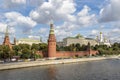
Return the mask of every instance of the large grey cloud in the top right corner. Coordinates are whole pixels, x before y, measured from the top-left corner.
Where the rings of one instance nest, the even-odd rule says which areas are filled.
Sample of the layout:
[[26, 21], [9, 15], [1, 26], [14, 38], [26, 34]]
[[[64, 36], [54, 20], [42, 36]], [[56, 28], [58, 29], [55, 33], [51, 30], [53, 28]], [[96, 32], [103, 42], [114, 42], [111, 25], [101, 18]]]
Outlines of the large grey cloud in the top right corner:
[[120, 0], [110, 0], [110, 3], [101, 9], [100, 22], [120, 20]]

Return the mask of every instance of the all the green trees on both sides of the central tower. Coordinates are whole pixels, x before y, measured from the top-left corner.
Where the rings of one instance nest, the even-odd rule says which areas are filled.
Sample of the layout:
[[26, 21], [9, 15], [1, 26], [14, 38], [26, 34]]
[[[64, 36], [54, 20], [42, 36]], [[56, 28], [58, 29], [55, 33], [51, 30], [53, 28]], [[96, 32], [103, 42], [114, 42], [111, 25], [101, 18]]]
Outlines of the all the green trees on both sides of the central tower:
[[[88, 49], [87, 45], [71, 44], [70, 46], [57, 47], [57, 51], [85, 51]], [[111, 47], [106, 45], [96, 45], [91, 46], [91, 49], [98, 50], [100, 55], [118, 55], [120, 54], [120, 43], [114, 43]], [[13, 46], [12, 50], [5, 45], [0, 45], [0, 59], [11, 59], [13, 56], [19, 56], [22, 59], [28, 58], [40, 58], [40, 55], [35, 54], [36, 51], [47, 52], [47, 44], [33, 44], [32, 46], [28, 44], [19, 44]]]

